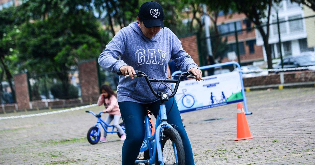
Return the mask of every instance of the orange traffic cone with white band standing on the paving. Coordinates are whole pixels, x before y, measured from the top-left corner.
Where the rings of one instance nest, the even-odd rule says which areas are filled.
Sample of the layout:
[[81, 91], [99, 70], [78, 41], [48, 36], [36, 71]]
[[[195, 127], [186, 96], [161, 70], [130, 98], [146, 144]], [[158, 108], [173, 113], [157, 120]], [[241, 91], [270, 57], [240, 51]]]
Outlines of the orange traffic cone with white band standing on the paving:
[[237, 127], [236, 127], [236, 139], [234, 140], [245, 140], [252, 139], [254, 136], [250, 135], [249, 127], [243, 111], [243, 104], [241, 102], [237, 103]]

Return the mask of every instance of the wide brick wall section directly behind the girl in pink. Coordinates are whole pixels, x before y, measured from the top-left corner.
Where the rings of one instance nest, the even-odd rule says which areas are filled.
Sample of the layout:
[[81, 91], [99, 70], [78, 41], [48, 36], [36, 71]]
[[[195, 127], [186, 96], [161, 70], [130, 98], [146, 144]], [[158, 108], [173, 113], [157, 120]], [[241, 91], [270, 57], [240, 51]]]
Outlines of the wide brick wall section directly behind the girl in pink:
[[96, 103], [100, 94], [96, 60], [80, 63], [79, 79], [83, 103]]

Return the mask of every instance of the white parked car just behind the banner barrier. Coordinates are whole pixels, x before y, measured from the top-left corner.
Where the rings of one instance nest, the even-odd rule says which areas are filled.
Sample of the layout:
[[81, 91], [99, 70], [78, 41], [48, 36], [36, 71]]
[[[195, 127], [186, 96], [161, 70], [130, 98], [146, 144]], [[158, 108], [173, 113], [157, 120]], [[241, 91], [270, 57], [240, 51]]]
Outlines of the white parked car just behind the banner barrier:
[[[266, 76], [268, 75], [267, 70], [263, 70], [259, 68], [258, 66], [254, 65], [248, 65], [248, 66], [242, 66], [242, 77], [248, 78], [248, 77], [257, 77], [257, 76]], [[238, 70], [238, 68], [235, 68], [234, 71]]]

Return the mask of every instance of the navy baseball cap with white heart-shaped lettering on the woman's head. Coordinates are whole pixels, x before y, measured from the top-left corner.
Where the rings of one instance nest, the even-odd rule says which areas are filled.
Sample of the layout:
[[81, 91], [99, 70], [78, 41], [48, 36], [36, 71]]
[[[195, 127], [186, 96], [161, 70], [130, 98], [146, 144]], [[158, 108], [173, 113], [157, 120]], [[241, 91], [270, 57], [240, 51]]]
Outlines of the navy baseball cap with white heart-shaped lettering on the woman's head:
[[147, 28], [159, 26], [164, 29], [163, 8], [157, 2], [143, 3], [139, 9], [138, 17]]

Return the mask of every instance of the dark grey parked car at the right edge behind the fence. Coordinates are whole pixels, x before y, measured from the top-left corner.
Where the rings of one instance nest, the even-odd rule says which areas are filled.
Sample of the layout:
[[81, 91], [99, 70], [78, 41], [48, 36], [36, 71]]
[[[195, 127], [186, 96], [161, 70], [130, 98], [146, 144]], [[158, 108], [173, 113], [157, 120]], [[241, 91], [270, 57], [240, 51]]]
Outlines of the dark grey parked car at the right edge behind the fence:
[[[283, 58], [283, 68], [309, 67], [308, 70], [315, 70], [315, 57], [312, 55], [288, 56]], [[274, 67], [281, 68], [281, 61]]]

